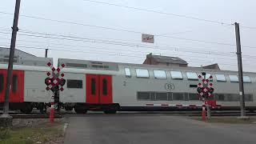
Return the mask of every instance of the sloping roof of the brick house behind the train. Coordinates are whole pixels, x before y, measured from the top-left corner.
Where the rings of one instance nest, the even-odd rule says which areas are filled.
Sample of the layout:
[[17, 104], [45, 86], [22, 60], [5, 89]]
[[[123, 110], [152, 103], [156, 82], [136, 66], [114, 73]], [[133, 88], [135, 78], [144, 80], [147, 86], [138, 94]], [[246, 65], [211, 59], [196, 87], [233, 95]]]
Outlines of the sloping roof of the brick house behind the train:
[[183, 64], [183, 65], [188, 64], [185, 60], [178, 57], [168, 57], [168, 56], [154, 55], [154, 54], [152, 54], [152, 57], [155, 59], [156, 62], [175, 63], [175, 64]]

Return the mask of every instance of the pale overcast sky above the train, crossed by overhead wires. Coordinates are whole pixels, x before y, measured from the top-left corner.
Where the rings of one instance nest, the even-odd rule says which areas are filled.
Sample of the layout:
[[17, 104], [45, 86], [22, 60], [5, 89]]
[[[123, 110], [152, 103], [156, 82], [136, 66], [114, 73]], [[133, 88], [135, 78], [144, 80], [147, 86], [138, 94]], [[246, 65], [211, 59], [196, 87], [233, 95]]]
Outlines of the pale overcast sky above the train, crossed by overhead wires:
[[[235, 45], [234, 26], [231, 24], [238, 22], [241, 26], [252, 27], [240, 27], [243, 68], [256, 71], [255, 0], [95, 1], [118, 6], [86, 0], [22, 0], [17, 48], [40, 57], [44, 57], [43, 49], [48, 48], [48, 56], [55, 62], [57, 58], [75, 58], [142, 63], [146, 54], [152, 52], [178, 56], [189, 66], [218, 63], [222, 70], [237, 70], [236, 46], [232, 46]], [[15, 0], [1, 0], [0, 46], [10, 46], [14, 6]], [[27, 31], [29, 33], [24, 33]], [[154, 34], [154, 44], [142, 43], [142, 33]]]

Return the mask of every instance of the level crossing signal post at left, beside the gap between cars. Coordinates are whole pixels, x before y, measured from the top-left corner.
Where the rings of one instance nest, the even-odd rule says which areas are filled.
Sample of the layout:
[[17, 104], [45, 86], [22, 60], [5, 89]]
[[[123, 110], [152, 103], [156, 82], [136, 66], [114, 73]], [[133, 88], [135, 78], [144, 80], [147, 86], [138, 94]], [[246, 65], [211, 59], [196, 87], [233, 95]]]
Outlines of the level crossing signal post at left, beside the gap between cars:
[[[53, 96], [50, 98], [50, 122], [54, 122], [54, 106], [55, 103], [58, 102], [58, 92], [59, 90], [63, 91], [64, 88], [63, 86], [66, 83], [66, 79], [64, 79], [64, 74], [61, 73], [60, 71], [62, 68], [65, 67], [65, 64], [62, 64], [59, 66], [57, 69], [54, 68], [51, 62], [47, 63], [47, 66], [50, 67], [51, 72], [47, 72], [47, 78], [45, 79], [45, 84], [46, 84], [46, 90], [51, 90], [53, 92]], [[57, 106], [58, 107], [58, 106]]]

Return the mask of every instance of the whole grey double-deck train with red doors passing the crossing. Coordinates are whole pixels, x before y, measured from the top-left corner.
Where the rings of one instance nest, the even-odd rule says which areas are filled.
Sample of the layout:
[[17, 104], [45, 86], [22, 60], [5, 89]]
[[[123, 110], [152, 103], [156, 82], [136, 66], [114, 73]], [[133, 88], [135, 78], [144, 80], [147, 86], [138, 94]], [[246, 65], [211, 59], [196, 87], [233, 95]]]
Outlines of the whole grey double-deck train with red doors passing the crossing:
[[[30, 113], [50, 103], [46, 91], [47, 62], [52, 58], [20, 59], [14, 65], [10, 108]], [[66, 85], [59, 102], [66, 110], [86, 113], [103, 110], [197, 110], [202, 101], [197, 95], [198, 74], [213, 76], [214, 100], [220, 110], [239, 109], [238, 73], [203, 70], [198, 67], [167, 67], [118, 62], [94, 62], [59, 58], [64, 63]], [[0, 104], [4, 101], [7, 63], [0, 63]], [[244, 72], [246, 109], [255, 110], [256, 74]]]

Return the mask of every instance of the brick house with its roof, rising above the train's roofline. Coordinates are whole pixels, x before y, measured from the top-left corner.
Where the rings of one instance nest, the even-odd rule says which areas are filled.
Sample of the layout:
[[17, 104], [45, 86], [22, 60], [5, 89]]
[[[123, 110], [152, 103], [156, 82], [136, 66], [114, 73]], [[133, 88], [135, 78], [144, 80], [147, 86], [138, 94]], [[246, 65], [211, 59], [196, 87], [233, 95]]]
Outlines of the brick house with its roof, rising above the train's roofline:
[[158, 65], [158, 66], [187, 66], [188, 65], [188, 63], [182, 58], [154, 55], [152, 53], [146, 55], [146, 59], [143, 62], [143, 64]]

